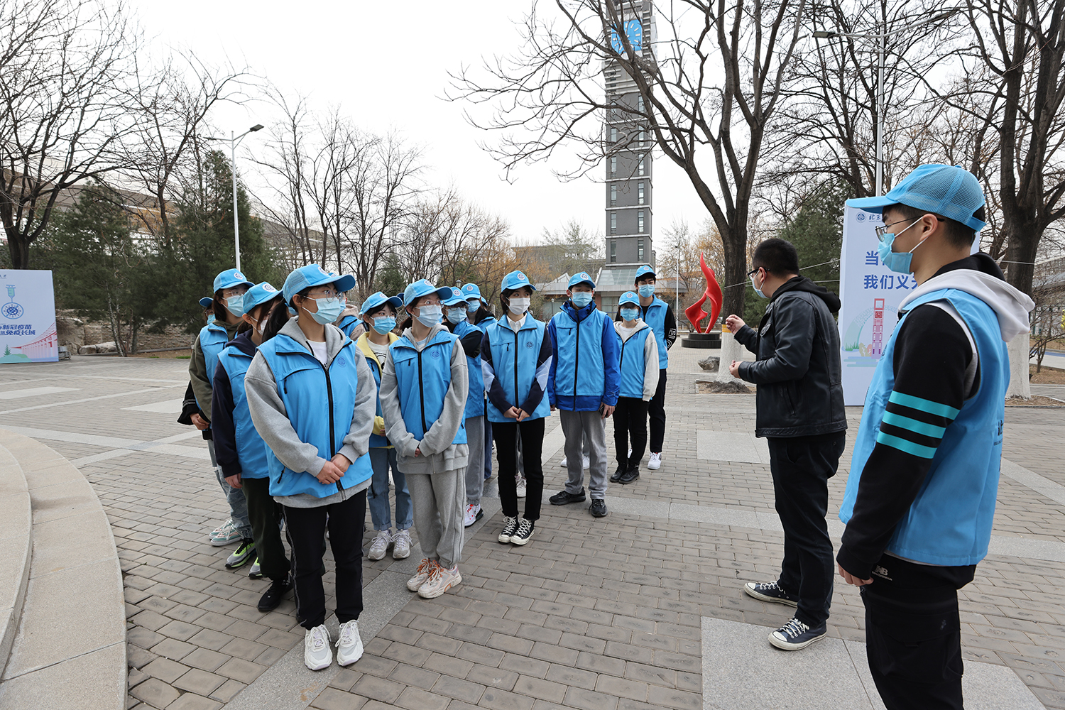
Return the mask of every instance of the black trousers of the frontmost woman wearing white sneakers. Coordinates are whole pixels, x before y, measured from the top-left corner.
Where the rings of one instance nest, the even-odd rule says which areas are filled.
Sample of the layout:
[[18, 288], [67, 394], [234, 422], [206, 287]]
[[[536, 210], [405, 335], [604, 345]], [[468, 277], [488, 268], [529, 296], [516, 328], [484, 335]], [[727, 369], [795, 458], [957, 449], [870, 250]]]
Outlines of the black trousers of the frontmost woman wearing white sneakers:
[[337, 563], [337, 621], [362, 613], [362, 527], [366, 521], [366, 492], [318, 508], [282, 506], [292, 545], [296, 583], [296, 620], [305, 629], [326, 621], [326, 592], [322, 583], [322, 541], [329, 522], [329, 546]]

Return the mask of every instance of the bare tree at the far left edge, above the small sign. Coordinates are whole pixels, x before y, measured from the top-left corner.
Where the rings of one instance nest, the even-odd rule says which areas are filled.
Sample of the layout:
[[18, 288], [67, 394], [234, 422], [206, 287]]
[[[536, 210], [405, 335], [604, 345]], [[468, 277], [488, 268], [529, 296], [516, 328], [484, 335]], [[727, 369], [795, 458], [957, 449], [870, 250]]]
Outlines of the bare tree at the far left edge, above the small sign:
[[0, 36], [0, 222], [12, 266], [29, 268], [61, 196], [119, 164], [137, 37], [102, 0], [4, 2]]

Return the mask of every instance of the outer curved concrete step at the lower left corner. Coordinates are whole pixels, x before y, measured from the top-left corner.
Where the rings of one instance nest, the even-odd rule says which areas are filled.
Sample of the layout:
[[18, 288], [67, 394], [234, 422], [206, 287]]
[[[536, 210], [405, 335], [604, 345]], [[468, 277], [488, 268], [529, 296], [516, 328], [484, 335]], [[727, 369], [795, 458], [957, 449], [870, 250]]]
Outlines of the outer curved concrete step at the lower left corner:
[[4, 429], [0, 446], [23, 474], [32, 516], [29, 579], [0, 677], [0, 710], [125, 708], [126, 609], [103, 507], [51, 448]]

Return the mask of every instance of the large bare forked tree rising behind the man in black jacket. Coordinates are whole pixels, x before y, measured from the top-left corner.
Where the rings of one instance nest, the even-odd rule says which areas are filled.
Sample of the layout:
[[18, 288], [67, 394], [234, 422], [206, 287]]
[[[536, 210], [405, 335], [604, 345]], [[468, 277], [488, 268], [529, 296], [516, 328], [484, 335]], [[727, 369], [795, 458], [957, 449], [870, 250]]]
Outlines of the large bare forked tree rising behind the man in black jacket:
[[[725, 280], [740, 281], [763, 145], [803, 36], [805, 0], [672, 0], [657, 18], [654, 52], [648, 42], [634, 47], [626, 35], [630, 3], [552, 4], [561, 21], [543, 18], [534, 4], [524, 47], [487, 66], [486, 81], [460, 71], [450, 98], [495, 109], [491, 118], [471, 122], [504, 132], [493, 150], [508, 171], [545, 160], [563, 144], [576, 145], [580, 163], [563, 172], [570, 178], [633, 150], [635, 135], [605, 142], [601, 130], [607, 111], [627, 114], [684, 170], [721, 233]], [[604, 63], [633, 82], [635, 105], [607, 103], [599, 79]], [[699, 158], [704, 146], [710, 165]], [[743, 296], [744, 290], [731, 290], [725, 312], [742, 313]]]

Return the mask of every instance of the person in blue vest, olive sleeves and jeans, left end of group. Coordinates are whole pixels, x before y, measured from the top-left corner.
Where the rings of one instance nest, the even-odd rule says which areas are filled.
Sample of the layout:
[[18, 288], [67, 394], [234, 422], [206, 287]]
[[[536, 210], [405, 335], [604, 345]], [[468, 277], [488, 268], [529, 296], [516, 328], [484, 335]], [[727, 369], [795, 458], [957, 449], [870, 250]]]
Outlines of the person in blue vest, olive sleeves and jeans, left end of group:
[[[245, 278], [242, 271], [229, 268], [214, 277], [214, 296], [210, 308], [214, 319], [209, 320], [200, 330], [193, 343], [193, 354], [189, 360], [189, 380], [193, 394], [199, 407], [199, 413], [192, 415], [192, 422], [197, 429], [207, 431], [208, 451], [211, 453], [211, 465], [215, 477], [229, 503], [229, 519], [211, 531], [209, 539], [212, 545], [224, 546], [239, 542], [236, 550], [226, 560], [227, 567], [239, 567], [255, 560], [255, 542], [251, 534], [251, 524], [248, 522], [248, 507], [244, 494], [226, 482], [226, 477], [218, 467], [214, 451], [214, 442], [210, 439], [212, 387], [214, 371], [218, 366], [218, 354], [236, 336], [236, 328], [243, 323], [244, 294], [255, 284]], [[206, 299], [200, 299], [203, 306]], [[204, 307], [207, 308], [207, 307]]]

